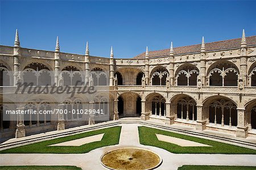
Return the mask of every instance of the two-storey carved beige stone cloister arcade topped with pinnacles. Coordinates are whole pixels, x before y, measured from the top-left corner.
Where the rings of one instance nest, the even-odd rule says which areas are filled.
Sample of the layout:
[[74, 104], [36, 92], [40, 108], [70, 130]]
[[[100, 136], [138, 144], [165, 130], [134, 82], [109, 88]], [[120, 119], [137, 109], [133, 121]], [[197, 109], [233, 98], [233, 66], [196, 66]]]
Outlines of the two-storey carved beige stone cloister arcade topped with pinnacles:
[[[18, 31], [14, 46], [0, 47], [0, 86], [10, 93], [17, 82], [28, 81], [24, 74], [34, 78], [36, 86], [75, 85], [79, 79], [79, 86], [89, 82], [109, 88], [109, 93], [102, 90], [90, 101], [85, 95], [62, 101], [51, 94], [31, 95], [23, 105], [15, 106], [18, 109], [102, 108], [109, 111], [109, 120], [141, 117], [256, 137], [256, 36], [245, 37], [245, 31], [240, 39], [205, 43], [203, 37], [197, 45], [173, 48], [171, 43], [170, 49], [152, 52], [146, 48], [146, 53], [134, 58], [114, 58], [113, 48], [110, 58], [90, 56], [88, 42], [85, 55], [61, 53], [58, 37], [55, 52], [21, 48]], [[40, 80], [46, 71], [55, 74], [48, 82]], [[96, 71], [106, 74], [97, 76]], [[1, 105], [0, 138], [97, 123], [93, 117], [79, 121], [81, 116], [57, 121], [10, 116], [11, 121], [3, 121], [3, 109]]]

